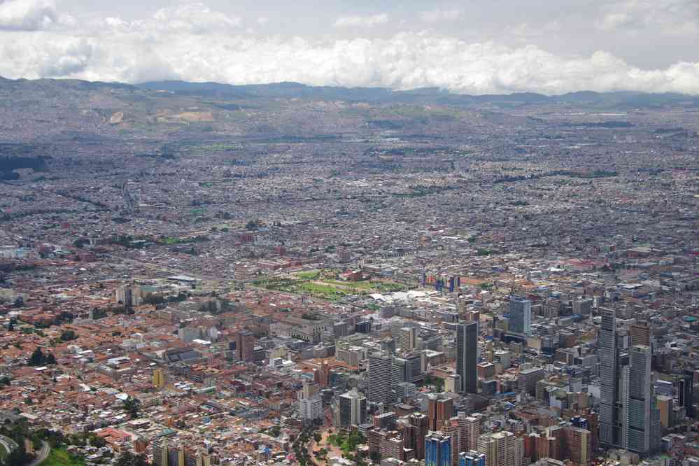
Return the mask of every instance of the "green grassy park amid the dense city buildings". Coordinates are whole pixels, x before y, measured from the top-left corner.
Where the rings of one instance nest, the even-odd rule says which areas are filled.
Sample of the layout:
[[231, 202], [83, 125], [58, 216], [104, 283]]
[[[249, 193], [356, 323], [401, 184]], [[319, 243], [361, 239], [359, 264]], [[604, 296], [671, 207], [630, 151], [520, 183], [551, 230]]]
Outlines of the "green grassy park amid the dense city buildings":
[[306, 294], [329, 301], [348, 295], [368, 295], [375, 292], [407, 289], [406, 285], [390, 281], [341, 281], [336, 278], [336, 275], [337, 271], [334, 270], [312, 270], [297, 272], [283, 278], [262, 278], [255, 281], [255, 285], [267, 290]]

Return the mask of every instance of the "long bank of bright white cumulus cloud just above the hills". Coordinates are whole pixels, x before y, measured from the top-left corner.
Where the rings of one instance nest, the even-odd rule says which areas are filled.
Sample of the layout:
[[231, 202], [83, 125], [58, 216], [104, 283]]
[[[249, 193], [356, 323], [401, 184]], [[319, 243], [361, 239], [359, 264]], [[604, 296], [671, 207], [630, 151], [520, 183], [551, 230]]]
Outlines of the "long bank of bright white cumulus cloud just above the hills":
[[[0, 76], [139, 83], [441, 87], [468, 94], [639, 90], [699, 94], [699, 63], [641, 69], [612, 53], [556, 55], [535, 45], [472, 42], [432, 31], [328, 41], [246, 34], [197, 3], [146, 20], [108, 17], [40, 34], [0, 31]], [[525, 28], [526, 29], [526, 28]], [[17, 34], [22, 40], [17, 40]]]

